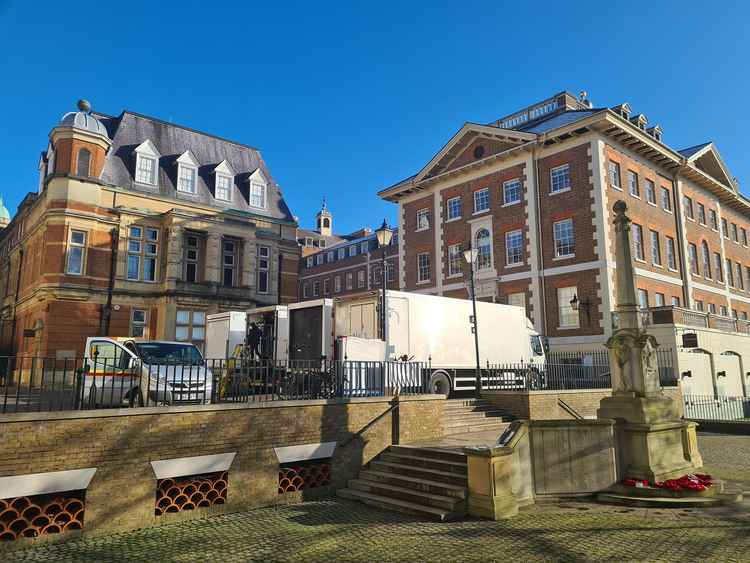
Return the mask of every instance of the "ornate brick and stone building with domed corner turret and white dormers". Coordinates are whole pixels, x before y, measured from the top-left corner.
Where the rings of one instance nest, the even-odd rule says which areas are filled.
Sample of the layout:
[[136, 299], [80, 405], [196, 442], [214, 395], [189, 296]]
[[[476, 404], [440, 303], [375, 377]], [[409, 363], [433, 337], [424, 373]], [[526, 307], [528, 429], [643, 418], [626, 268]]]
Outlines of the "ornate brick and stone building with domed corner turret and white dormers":
[[81, 101], [0, 231], [2, 354], [79, 355], [94, 335], [202, 347], [207, 313], [296, 298], [296, 227], [257, 149]]

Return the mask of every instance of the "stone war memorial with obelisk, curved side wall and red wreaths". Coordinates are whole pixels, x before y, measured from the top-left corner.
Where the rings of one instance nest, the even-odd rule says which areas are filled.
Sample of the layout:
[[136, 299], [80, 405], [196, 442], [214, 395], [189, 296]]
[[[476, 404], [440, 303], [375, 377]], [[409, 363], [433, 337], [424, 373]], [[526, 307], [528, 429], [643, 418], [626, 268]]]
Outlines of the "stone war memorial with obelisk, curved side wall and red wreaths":
[[[467, 511], [504, 519], [536, 500], [678, 507], [734, 502], [725, 484], [698, 474], [697, 424], [680, 417], [659, 382], [657, 343], [636, 301], [627, 205], [613, 207], [616, 327], [607, 342], [612, 394], [593, 420], [519, 420], [490, 446], [466, 447]], [[715, 486], [714, 486], [715, 485]]]

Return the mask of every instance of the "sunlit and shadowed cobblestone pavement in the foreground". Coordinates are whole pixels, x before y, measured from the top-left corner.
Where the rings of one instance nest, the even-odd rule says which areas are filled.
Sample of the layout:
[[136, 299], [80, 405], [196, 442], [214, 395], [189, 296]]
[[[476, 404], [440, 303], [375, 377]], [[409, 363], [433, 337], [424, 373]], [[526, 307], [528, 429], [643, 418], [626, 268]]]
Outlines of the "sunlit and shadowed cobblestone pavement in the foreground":
[[[712, 470], [747, 481], [750, 436], [701, 436]], [[744, 473], [743, 473], [744, 472]], [[730, 476], [731, 478], [731, 476]], [[264, 508], [0, 554], [4, 561], [748, 561], [750, 504], [657, 510], [541, 504], [437, 523], [340, 499]]]

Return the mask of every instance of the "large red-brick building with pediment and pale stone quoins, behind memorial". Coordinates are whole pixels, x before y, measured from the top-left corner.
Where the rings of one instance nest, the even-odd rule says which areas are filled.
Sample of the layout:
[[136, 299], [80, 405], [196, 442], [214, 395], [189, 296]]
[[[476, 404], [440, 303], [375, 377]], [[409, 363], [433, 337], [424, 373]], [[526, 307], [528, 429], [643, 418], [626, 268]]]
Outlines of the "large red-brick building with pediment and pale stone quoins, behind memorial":
[[[464, 124], [379, 194], [399, 205], [399, 286], [466, 297], [470, 244], [479, 298], [525, 306], [557, 349], [600, 345], [613, 323], [612, 205], [623, 199], [639, 300], [658, 312], [650, 322], [671, 326], [675, 343], [686, 330], [720, 335], [715, 352], [747, 354], [750, 367], [750, 201], [713, 143], [677, 149], [663, 135], [627, 103], [593, 107], [567, 92]], [[732, 371], [744, 386], [742, 366]]]

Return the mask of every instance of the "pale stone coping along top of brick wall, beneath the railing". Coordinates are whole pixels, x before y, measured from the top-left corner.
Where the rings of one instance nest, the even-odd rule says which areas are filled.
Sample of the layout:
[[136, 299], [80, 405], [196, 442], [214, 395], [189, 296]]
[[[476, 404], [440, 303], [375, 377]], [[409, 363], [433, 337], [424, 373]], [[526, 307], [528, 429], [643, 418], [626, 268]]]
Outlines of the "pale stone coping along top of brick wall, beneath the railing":
[[220, 403], [211, 405], [181, 405], [168, 407], [141, 407], [121, 409], [96, 409], [53, 412], [25, 412], [0, 415], [0, 423], [4, 422], [34, 422], [41, 420], [74, 420], [82, 418], [112, 418], [118, 416], [152, 416], [155, 414], [184, 414], [216, 411], [255, 410], [255, 409], [283, 409], [294, 407], [318, 407], [333, 405], [349, 405], [363, 403], [391, 403], [397, 399], [401, 403], [414, 401], [440, 401], [446, 395], [398, 395], [388, 397], [351, 397], [348, 399], [309, 399], [295, 401], [259, 401], [257, 403]]

